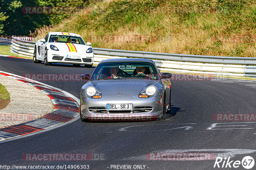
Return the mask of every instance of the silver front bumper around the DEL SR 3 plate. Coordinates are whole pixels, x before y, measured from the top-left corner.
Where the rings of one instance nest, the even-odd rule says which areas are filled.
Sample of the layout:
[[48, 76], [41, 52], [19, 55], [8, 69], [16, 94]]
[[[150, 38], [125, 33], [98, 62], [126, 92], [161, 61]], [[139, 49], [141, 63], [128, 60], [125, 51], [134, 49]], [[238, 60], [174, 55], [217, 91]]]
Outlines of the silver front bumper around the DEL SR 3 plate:
[[[102, 96], [80, 98], [81, 117], [88, 120], [152, 121], [163, 115], [163, 96], [139, 98], [138, 96]], [[107, 104], [133, 104], [131, 111], [107, 110]]]

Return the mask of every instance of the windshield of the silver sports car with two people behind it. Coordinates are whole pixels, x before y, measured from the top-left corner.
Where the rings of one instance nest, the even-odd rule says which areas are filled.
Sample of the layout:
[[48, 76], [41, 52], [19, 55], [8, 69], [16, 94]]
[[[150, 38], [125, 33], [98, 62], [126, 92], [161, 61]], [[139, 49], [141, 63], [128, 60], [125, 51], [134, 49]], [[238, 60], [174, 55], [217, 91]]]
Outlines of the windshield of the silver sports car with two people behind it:
[[91, 80], [146, 79], [159, 80], [156, 67], [148, 62], [109, 62], [99, 64]]

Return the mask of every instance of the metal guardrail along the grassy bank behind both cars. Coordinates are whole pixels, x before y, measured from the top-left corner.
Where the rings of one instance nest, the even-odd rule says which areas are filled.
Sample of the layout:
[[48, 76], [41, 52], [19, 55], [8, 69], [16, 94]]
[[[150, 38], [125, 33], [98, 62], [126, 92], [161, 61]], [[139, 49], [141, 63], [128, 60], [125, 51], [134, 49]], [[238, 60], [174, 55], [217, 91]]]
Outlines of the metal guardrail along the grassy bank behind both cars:
[[[33, 57], [35, 43], [28, 37], [12, 36], [11, 52]], [[160, 70], [167, 72], [256, 77], [256, 66], [247, 66], [256, 65], [256, 58], [253, 57], [187, 55], [105, 48], [93, 48], [93, 50], [94, 64], [98, 64], [101, 60], [120, 57], [148, 58], [154, 60]]]

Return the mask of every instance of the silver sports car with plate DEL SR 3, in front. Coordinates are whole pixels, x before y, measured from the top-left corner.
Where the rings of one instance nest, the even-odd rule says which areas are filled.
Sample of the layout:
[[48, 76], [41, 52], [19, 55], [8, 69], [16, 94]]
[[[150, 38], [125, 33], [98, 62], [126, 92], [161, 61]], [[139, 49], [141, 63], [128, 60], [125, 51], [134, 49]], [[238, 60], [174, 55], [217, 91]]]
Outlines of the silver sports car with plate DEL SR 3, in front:
[[95, 68], [80, 91], [82, 121], [163, 120], [171, 109], [172, 74], [149, 59], [108, 59]]

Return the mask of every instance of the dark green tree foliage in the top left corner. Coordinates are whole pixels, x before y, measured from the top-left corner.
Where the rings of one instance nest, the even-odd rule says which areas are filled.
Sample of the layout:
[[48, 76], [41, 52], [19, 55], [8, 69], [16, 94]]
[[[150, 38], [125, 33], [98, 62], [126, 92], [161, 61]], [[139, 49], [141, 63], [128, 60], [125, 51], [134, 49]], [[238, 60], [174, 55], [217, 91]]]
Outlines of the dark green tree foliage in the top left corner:
[[29, 14], [25, 7], [86, 7], [91, 0], [0, 0], [0, 35], [28, 35], [35, 28], [59, 23], [71, 14]]

